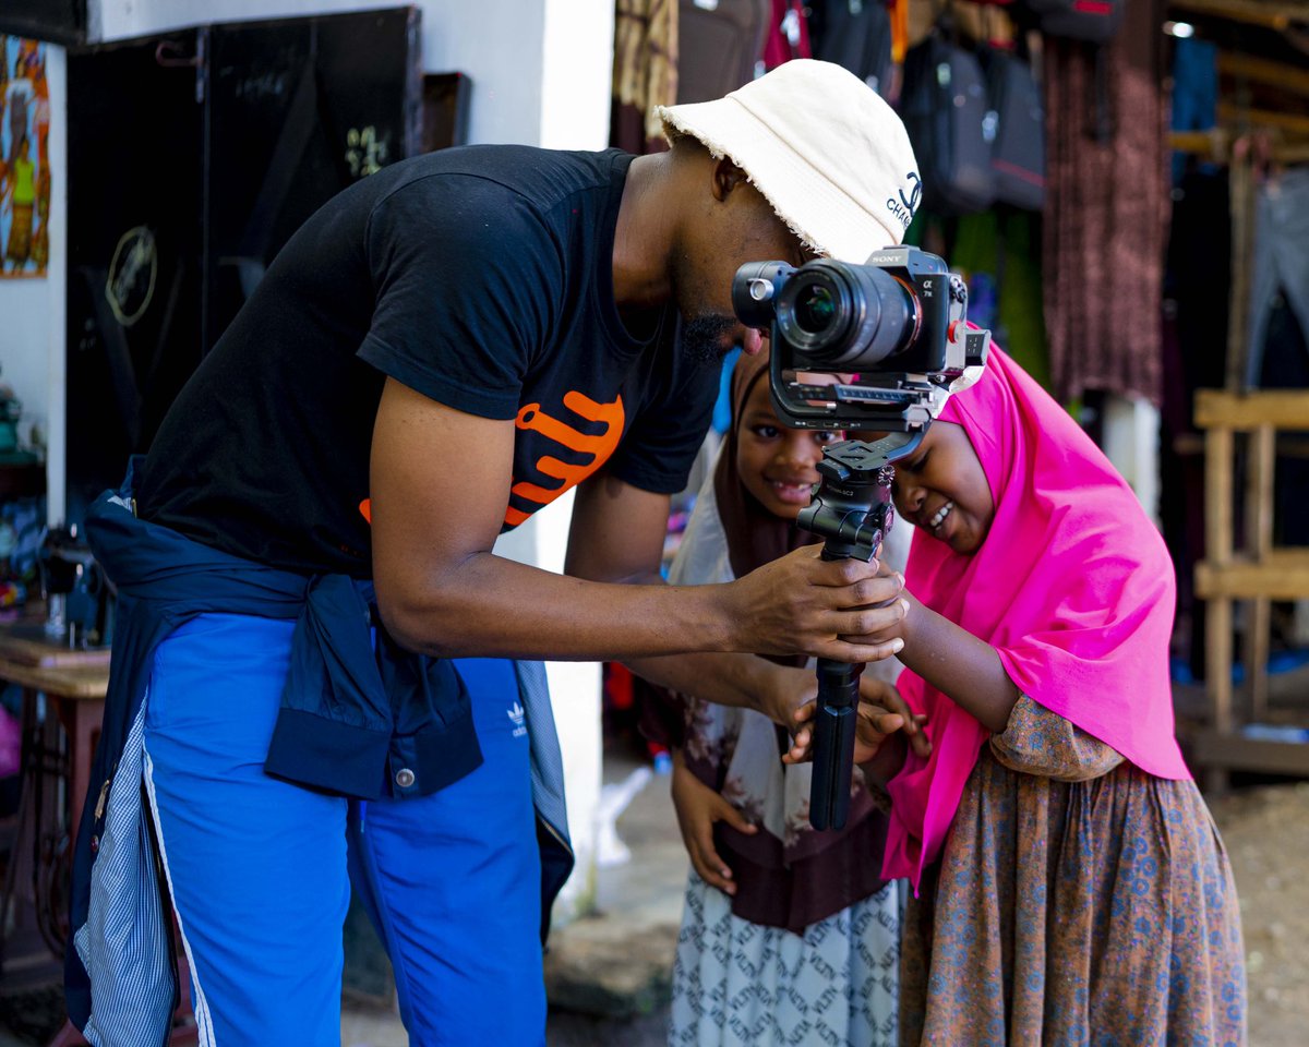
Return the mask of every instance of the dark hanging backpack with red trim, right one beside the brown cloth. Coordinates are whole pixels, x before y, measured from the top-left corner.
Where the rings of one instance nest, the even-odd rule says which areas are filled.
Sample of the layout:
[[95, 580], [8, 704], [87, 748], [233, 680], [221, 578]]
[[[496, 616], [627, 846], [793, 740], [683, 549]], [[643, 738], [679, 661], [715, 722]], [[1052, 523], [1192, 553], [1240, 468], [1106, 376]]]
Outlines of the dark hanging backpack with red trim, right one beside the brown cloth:
[[994, 115], [991, 170], [995, 198], [1039, 211], [1046, 196], [1046, 114], [1031, 65], [1012, 51], [982, 51]]

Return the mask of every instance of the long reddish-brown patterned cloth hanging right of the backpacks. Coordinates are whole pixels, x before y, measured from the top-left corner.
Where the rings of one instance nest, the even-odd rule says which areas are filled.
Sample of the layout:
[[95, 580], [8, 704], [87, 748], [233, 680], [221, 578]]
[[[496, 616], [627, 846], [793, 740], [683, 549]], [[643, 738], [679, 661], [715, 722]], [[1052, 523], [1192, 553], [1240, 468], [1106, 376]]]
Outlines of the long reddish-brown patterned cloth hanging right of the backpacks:
[[1141, 0], [1106, 44], [1045, 41], [1045, 315], [1064, 400], [1160, 399], [1170, 205], [1160, 25], [1158, 0]]

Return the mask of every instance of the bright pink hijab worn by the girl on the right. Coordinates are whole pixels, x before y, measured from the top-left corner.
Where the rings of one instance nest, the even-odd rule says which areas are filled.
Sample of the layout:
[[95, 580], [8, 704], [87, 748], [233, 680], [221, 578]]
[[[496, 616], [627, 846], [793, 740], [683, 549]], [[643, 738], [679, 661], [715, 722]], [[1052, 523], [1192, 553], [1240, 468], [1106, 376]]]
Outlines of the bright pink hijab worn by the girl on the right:
[[[1018, 690], [1158, 777], [1189, 779], [1173, 737], [1173, 564], [1127, 483], [1069, 415], [1001, 351], [950, 398], [995, 499], [982, 547], [915, 538], [906, 586], [990, 643]], [[941, 853], [987, 730], [915, 673], [897, 684], [928, 716], [932, 755], [890, 783], [882, 874]]]

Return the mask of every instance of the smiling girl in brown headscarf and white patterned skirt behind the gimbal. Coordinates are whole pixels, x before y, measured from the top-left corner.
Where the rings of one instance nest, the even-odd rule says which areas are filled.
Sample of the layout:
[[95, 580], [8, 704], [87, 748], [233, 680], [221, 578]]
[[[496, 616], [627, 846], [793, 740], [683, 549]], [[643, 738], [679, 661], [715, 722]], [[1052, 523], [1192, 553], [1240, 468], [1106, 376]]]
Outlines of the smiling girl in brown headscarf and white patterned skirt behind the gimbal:
[[[795, 520], [809, 504], [823, 448], [842, 435], [784, 427], [767, 372], [767, 352], [737, 361], [732, 427], [687, 525], [674, 584], [729, 581], [814, 543]], [[812, 684], [812, 670], [791, 665]], [[878, 679], [891, 665], [869, 666], [865, 699], [895, 703]], [[899, 903], [868, 860], [881, 855], [886, 835], [872, 792], [860, 776], [847, 827], [814, 832], [810, 766], [783, 763], [784, 729], [749, 709], [682, 701], [673, 800], [692, 872], [669, 1042], [893, 1047]], [[903, 725], [895, 713], [876, 721], [881, 732]], [[882, 737], [868, 721], [861, 726], [874, 745]], [[916, 738], [925, 753], [922, 733]]]

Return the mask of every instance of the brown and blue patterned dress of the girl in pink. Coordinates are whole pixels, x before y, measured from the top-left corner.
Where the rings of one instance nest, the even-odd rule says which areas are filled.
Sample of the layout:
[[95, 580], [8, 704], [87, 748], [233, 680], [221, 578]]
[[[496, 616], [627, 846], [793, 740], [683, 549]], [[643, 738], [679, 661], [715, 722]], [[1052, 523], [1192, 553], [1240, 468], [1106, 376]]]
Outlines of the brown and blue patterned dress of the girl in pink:
[[973, 770], [902, 949], [906, 1047], [1246, 1042], [1240, 906], [1195, 784], [1026, 698]]

